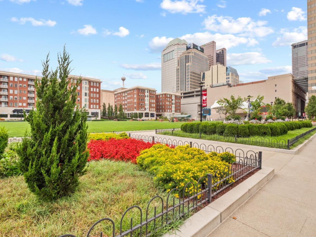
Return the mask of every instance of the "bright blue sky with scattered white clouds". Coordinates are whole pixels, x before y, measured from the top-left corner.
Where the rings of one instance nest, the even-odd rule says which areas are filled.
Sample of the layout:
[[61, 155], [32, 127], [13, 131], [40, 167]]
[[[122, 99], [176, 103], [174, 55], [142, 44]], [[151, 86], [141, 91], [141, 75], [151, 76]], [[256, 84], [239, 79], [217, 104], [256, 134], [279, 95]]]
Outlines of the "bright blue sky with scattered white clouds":
[[306, 0], [0, 0], [0, 70], [41, 72], [66, 44], [72, 74], [161, 90], [161, 50], [179, 37], [227, 48], [240, 80], [291, 72], [291, 43], [307, 39]]

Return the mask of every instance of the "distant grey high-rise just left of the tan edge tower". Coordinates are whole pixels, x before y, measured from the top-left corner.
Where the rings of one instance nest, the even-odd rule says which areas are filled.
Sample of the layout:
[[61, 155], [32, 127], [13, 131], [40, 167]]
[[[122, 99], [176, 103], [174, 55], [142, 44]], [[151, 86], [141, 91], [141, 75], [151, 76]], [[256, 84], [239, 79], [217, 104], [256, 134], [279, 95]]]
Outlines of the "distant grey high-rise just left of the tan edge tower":
[[291, 44], [292, 46], [292, 74], [295, 78], [308, 76], [307, 40]]

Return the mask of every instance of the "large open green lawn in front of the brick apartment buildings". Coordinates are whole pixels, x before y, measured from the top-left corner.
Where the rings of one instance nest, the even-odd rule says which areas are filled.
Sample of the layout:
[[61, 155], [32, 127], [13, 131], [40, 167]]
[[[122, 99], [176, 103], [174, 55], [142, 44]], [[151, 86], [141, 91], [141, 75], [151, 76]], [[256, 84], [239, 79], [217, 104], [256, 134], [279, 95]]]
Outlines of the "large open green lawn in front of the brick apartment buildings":
[[[88, 122], [88, 132], [112, 132], [112, 131], [141, 131], [163, 128], [179, 128], [183, 123], [159, 122], [159, 121], [91, 121]], [[1, 122], [0, 127], [8, 130], [9, 136], [24, 136], [29, 130], [27, 122]]]

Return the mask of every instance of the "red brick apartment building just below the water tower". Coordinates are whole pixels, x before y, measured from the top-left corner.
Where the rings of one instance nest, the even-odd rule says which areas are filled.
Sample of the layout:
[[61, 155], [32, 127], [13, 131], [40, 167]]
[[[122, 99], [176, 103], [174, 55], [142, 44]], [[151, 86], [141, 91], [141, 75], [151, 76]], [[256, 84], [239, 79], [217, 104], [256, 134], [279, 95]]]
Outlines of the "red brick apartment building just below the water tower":
[[114, 92], [114, 103], [122, 104], [127, 117], [131, 112], [142, 113], [145, 120], [156, 118], [156, 89], [134, 86]]

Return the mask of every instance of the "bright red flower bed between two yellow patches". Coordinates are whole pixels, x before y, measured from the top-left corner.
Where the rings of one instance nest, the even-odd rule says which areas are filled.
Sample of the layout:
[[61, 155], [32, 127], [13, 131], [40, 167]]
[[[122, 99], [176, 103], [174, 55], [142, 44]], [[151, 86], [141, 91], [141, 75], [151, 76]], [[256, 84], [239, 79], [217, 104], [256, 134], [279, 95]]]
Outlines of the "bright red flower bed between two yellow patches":
[[136, 163], [136, 157], [144, 149], [151, 148], [154, 143], [143, 142], [136, 139], [116, 140], [90, 140], [88, 161], [111, 159], [115, 161], [131, 161]]

